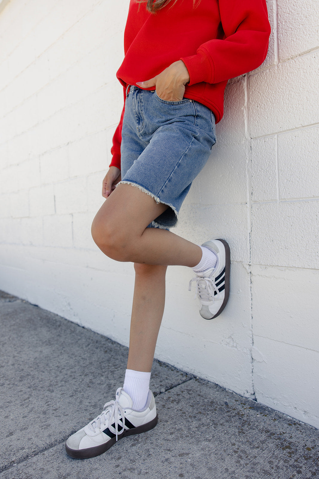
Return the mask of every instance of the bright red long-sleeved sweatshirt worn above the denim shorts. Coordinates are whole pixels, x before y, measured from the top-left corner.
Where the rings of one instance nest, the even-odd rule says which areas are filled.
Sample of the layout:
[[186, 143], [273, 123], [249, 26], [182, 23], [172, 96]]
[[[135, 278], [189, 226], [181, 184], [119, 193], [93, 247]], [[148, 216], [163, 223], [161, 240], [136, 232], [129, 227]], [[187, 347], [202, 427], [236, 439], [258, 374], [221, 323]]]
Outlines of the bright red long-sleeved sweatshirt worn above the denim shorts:
[[[172, 6], [173, 4], [173, 6]], [[190, 81], [184, 98], [208, 106], [218, 123], [227, 80], [259, 67], [268, 50], [265, 0], [172, 0], [155, 14], [131, 0], [124, 33], [125, 57], [116, 76], [125, 89], [150, 80], [177, 60]], [[154, 87], [149, 88], [153, 90]], [[110, 166], [121, 167], [121, 121]]]

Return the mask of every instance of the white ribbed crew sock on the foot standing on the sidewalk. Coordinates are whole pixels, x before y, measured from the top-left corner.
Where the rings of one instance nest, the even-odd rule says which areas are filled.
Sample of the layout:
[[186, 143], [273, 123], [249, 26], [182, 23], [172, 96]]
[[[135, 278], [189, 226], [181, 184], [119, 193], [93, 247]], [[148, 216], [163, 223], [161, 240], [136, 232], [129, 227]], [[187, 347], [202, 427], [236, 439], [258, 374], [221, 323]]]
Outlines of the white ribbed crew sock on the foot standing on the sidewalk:
[[151, 373], [126, 369], [124, 379], [124, 391], [131, 396], [134, 411], [142, 411], [146, 405], [150, 388]]

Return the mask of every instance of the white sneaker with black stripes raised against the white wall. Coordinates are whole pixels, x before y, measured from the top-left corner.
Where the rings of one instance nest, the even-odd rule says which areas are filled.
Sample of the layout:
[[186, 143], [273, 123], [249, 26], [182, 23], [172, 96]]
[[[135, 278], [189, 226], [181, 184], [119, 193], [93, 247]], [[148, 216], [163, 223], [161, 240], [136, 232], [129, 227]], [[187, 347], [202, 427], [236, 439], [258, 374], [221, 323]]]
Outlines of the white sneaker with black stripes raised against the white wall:
[[217, 318], [225, 308], [229, 298], [231, 253], [224, 239], [212, 239], [202, 244], [217, 256], [214, 268], [196, 273], [189, 282], [189, 291], [196, 281], [196, 296], [199, 300], [199, 313], [205, 319]]

